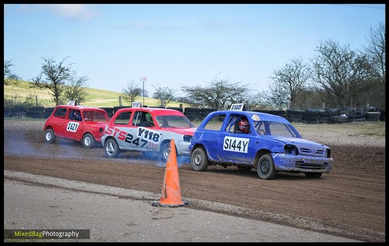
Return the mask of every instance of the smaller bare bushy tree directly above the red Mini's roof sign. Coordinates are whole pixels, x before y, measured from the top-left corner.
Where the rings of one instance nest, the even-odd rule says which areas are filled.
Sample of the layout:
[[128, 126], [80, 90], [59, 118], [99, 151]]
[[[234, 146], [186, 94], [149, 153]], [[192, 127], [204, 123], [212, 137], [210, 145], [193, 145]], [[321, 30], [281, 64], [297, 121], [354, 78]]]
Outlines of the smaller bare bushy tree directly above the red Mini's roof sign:
[[64, 96], [66, 100], [77, 101], [78, 104], [85, 102], [88, 97], [88, 75], [77, 76], [76, 72], [68, 80], [64, 89]]

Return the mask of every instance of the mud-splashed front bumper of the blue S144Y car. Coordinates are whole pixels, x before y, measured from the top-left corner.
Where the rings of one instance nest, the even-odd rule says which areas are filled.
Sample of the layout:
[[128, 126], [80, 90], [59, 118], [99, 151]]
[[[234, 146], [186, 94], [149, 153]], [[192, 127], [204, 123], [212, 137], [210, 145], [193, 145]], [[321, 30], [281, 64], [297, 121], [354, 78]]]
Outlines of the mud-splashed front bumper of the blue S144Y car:
[[281, 153], [272, 153], [271, 157], [278, 171], [329, 173], [334, 163], [333, 158], [326, 157], [293, 156]]

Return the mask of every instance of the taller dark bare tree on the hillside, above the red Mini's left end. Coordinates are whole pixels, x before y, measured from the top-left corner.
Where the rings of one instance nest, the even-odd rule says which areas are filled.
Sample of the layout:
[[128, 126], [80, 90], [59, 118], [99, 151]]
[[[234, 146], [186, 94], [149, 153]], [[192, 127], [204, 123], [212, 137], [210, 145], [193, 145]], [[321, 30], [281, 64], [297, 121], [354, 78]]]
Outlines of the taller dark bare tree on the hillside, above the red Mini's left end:
[[44, 63], [38, 76], [32, 79], [30, 88], [49, 89], [49, 94], [53, 96], [55, 105], [63, 102], [63, 92], [66, 82], [71, 78], [71, 64], [65, 65], [65, 57], [58, 64], [54, 58], [42, 58]]

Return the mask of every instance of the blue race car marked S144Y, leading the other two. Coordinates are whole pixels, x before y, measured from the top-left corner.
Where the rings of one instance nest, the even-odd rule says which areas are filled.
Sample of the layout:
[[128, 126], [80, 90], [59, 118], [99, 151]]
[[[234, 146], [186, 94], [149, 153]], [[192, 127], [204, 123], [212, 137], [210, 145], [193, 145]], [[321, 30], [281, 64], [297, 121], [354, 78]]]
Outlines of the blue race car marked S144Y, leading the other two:
[[210, 113], [195, 131], [189, 152], [195, 171], [233, 165], [245, 171], [256, 168], [261, 179], [280, 171], [318, 178], [334, 162], [329, 147], [303, 139], [286, 119], [238, 110]]

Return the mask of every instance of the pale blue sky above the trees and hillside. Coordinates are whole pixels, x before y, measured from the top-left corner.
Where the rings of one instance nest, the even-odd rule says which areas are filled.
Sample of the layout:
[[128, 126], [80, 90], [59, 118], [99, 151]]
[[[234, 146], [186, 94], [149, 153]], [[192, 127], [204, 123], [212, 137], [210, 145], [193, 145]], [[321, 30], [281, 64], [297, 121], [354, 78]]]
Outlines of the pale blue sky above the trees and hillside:
[[4, 59], [23, 80], [43, 59], [72, 63], [89, 87], [121, 91], [131, 81], [205, 86], [218, 78], [267, 90], [289, 59], [306, 62], [321, 39], [366, 45], [385, 23], [384, 4], [4, 4]]

